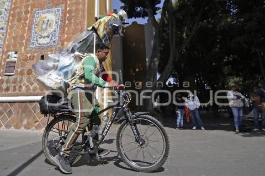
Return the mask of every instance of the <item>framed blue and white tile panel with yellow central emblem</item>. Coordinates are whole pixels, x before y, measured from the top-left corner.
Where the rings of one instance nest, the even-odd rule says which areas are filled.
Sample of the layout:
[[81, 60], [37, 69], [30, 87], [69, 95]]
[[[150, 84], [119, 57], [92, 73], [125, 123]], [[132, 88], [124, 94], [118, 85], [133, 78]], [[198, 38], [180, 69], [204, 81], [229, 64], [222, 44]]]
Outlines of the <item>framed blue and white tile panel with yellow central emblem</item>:
[[30, 47], [58, 45], [62, 8], [36, 10]]

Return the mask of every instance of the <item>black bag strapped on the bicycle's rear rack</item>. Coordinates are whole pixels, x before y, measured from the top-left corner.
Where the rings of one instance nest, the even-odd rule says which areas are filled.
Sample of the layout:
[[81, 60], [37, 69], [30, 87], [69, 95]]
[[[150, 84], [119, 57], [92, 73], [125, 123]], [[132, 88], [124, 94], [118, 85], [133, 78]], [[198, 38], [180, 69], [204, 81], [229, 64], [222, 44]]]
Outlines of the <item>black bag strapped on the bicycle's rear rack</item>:
[[[70, 104], [71, 106], [71, 104]], [[56, 95], [45, 95], [40, 100], [41, 114], [56, 114], [62, 112], [72, 112], [69, 109], [69, 100]]]

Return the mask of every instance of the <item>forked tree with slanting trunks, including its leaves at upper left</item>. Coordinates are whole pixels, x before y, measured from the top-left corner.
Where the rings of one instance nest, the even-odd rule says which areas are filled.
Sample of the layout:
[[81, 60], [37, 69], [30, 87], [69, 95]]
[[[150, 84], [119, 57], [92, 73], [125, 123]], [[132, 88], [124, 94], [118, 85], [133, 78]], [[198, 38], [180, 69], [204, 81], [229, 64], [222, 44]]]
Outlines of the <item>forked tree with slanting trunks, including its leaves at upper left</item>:
[[[160, 1], [126, 1], [121, 0], [125, 3], [122, 8], [128, 12], [128, 16], [132, 17], [137, 14], [137, 16], [145, 16], [148, 12], [148, 18], [151, 19], [152, 25], [154, 26], [154, 44], [152, 56], [150, 58], [150, 64], [147, 69], [147, 75], [145, 77], [145, 82], [152, 81], [152, 91], [159, 90], [162, 87], [156, 86], [157, 81], [165, 82], [172, 74], [174, 65], [180, 56], [180, 52], [185, 48], [185, 46], [190, 42], [196, 27], [200, 21], [202, 11], [204, 9], [206, 0], [203, 3], [198, 1], [178, 1], [175, 6], [173, 6], [170, 0], [165, 0], [161, 10], [161, 19], [159, 23], [155, 19], [155, 10]], [[137, 4], [137, 5], [136, 5]], [[139, 15], [141, 13], [141, 15]], [[180, 36], [179, 43], [176, 39], [176, 25], [178, 22], [182, 27], [178, 31]], [[168, 29], [165, 31], [164, 29]], [[161, 55], [162, 52], [162, 40], [169, 39], [169, 57], [165, 58]], [[159, 80], [156, 80], [156, 73], [158, 71], [158, 65], [161, 63], [166, 63], [165, 68], [161, 72]], [[149, 89], [146, 84], [143, 84], [143, 90]], [[151, 100], [145, 99], [143, 108], [147, 110], [152, 110]]]

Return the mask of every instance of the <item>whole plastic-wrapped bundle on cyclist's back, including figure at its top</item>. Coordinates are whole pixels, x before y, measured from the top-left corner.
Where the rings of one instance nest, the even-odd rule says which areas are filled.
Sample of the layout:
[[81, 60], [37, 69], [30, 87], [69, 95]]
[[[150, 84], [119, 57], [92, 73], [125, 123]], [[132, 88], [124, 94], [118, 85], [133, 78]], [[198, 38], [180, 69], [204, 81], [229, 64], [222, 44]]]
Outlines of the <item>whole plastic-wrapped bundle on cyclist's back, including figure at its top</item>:
[[98, 20], [67, 47], [49, 55], [47, 60], [35, 63], [32, 67], [38, 74], [37, 80], [46, 90], [56, 90], [52, 91], [54, 95], [62, 96], [57, 91], [60, 90], [66, 96], [68, 82], [82, 60], [75, 53], [95, 53], [95, 45], [100, 42], [109, 45], [114, 35], [121, 35], [121, 25], [122, 22], [114, 13]]

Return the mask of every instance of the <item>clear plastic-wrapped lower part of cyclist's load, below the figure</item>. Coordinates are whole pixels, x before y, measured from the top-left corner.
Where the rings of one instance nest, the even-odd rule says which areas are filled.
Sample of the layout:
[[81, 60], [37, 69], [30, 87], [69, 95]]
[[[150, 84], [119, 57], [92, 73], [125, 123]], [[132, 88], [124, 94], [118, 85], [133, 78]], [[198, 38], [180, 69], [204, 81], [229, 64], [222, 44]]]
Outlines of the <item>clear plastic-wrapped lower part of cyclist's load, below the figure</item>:
[[46, 90], [52, 91], [58, 96], [66, 96], [69, 87], [68, 80], [74, 75], [82, 58], [75, 55], [75, 52], [81, 54], [94, 53], [95, 44], [100, 43], [100, 38], [92, 30], [85, 30], [80, 34], [68, 47], [50, 54], [47, 60], [41, 60], [32, 67], [38, 74], [37, 80], [45, 87]]

